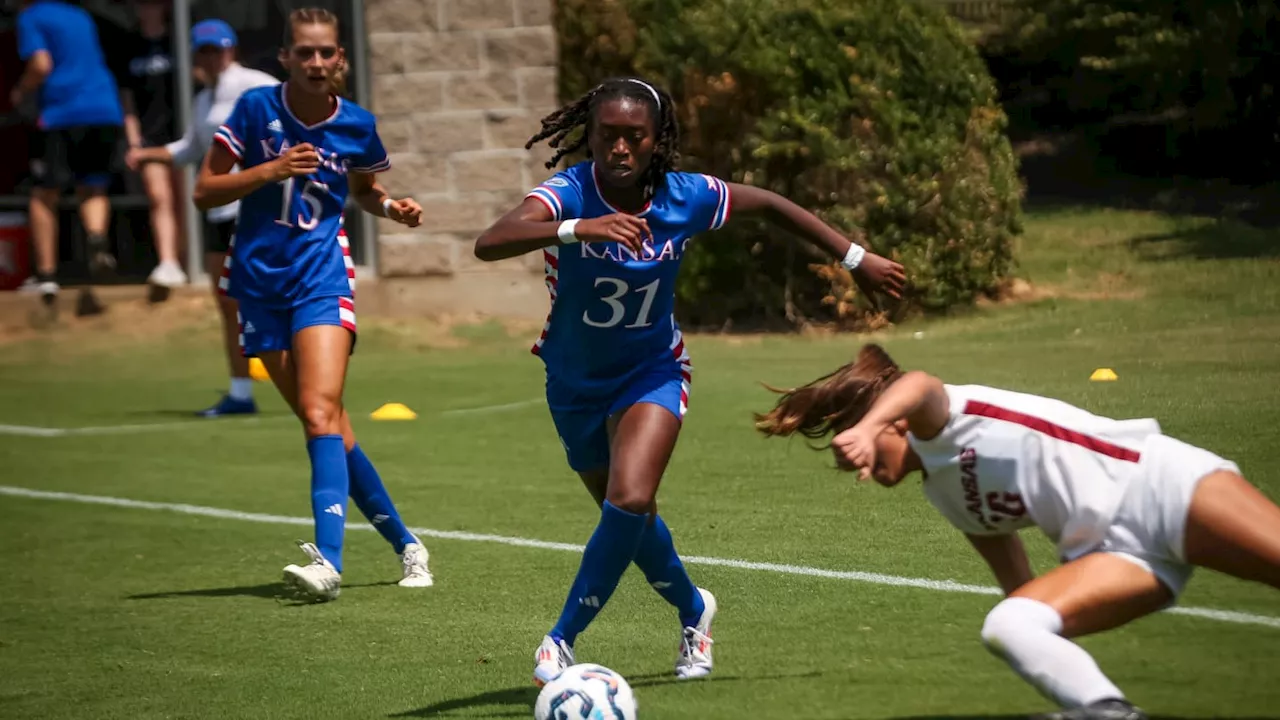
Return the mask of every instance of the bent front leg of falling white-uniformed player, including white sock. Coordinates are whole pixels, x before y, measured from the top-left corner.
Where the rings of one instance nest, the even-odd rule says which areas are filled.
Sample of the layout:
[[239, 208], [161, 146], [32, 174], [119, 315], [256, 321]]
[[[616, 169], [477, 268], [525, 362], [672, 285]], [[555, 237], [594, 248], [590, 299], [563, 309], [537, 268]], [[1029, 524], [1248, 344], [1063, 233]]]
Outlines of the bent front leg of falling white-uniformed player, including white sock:
[[1139, 720], [1146, 715], [1066, 638], [1117, 628], [1170, 600], [1172, 593], [1151, 571], [1097, 552], [1050, 570], [996, 605], [982, 641], [1065, 708], [1043, 720]]

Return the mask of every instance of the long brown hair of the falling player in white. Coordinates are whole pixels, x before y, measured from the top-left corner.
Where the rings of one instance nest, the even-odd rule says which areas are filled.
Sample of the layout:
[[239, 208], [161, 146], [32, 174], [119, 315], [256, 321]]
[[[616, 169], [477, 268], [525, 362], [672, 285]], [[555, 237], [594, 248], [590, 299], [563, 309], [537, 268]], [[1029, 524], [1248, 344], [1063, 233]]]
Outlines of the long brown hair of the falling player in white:
[[771, 437], [800, 433], [817, 439], [851, 428], [901, 377], [902, 369], [883, 347], [864, 345], [852, 363], [809, 384], [791, 389], [765, 386], [782, 397], [773, 410], [755, 414], [755, 429]]

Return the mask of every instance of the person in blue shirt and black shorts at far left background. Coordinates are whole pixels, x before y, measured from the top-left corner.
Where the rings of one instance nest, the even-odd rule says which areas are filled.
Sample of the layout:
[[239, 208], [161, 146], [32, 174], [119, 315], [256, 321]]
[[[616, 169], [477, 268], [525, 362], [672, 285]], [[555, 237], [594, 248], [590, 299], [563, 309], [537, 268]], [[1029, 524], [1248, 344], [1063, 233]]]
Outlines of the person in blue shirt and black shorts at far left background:
[[[60, 0], [27, 0], [18, 13], [18, 55], [27, 63], [13, 88], [14, 106], [35, 99], [38, 109], [31, 169], [31, 234], [36, 282], [50, 318], [58, 306], [58, 199], [76, 186], [88, 240], [90, 270], [101, 278], [115, 268], [106, 238], [111, 205], [106, 190], [124, 114], [119, 90], [102, 55], [93, 17]], [[79, 314], [102, 310], [86, 290]]]

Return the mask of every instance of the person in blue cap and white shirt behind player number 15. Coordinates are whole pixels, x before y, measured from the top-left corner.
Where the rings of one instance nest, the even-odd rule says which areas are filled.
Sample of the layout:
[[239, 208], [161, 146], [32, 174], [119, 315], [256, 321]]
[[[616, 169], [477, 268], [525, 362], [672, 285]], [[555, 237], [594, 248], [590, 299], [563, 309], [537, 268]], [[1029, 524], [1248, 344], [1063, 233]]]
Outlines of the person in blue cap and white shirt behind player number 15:
[[[236, 31], [223, 20], [202, 20], [191, 28], [193, 69], [205, 85], [192, 101], [191, 127], [183, 136], [163, 147], [140, 147], [125, 156], [131, 169], [146, 163], [178, 165], [198, 164], [214, 142], [214, 133], [236, 108], [239, 96], [255, 87], [279, 85], [275, 77], [246, 68], [236, 61]], [[230, 366], [232, 382], [227, 395], [212, 407], [197, 415], [218, 418], [257, 413], [253, 402], [253, 380], [248, 359], [239, 348], [239, 322], [236, 300], [218, 291], [236, 234], [239, 202], [215, 208], [205, 214], [205, 270], [214, 282], [214, 296], [223, 320], [223, 348]]]

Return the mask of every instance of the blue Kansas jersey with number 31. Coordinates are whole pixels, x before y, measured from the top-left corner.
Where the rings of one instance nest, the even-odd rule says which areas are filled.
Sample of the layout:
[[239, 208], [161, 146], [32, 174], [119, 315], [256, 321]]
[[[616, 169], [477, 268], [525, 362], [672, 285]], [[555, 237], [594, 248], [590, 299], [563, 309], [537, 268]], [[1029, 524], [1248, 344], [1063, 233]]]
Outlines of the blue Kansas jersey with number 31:
[[[600, 195], [590, 161], [557, 173], [529, 197], [545, 204], [556, 220], [618, 213]], [[653, 233], [643, 252], [617, 242], [545, 249], [552, 310], [534, 354], [547, 364], [549, 379], [594, 396], [655, 365], [678, 363], [687, 383], [691, 368], [672, 314], [676, 274], [689, 241], [723, 227], [728, 214], [723, 181], [669, 173], [637, 214]]]

